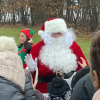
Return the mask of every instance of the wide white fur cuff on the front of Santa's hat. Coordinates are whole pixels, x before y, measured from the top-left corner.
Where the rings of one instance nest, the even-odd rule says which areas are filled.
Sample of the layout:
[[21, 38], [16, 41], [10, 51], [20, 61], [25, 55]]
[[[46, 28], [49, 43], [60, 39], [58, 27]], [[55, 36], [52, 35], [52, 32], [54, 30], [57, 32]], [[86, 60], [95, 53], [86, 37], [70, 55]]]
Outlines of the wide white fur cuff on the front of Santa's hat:
[[66, 22], [64, 19], [57, 18], [45, 22], [45, 33], [57, 33], [67, 30]]

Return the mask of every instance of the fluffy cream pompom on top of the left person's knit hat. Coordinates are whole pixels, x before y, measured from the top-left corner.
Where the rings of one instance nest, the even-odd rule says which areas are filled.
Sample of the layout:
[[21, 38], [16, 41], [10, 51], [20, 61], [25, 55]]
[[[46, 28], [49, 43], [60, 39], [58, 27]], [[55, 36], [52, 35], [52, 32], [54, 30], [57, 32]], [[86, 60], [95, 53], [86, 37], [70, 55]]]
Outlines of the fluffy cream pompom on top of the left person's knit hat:
[[0, 52], [11, 51], [14, 53], [18, 52], [17, 45], [14, 38], [1, 36], [0, 37]]

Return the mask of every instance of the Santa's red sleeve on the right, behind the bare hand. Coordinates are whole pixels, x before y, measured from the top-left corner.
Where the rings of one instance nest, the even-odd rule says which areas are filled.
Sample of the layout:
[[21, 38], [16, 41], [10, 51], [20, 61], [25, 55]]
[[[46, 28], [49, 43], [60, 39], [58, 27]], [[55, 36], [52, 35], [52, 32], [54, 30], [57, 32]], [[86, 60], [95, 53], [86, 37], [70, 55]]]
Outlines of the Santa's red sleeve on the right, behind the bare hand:
[[[82, 63], [82, 61], [81, 61], [81, 59], [80, 59], [80, 57], [82, 57], [83, 59], [85, 59], [87, 65], [88, 65], [88, 62], [87, 62], [87, 60], [86, 60], [86, 58], [85, 58], [85, 56], [84, 56], [84, 54], [83, 54], [83, 52], [82, 52], [80, 46], [79, 46], [75, 41], [74, 41], [73, 44], [71, 45], [70, 49], [71, 49], [72, 52], [76, 55], [76, 57], [77, 57], [77, 62], [79, 61], [79, 62]], [[77, 70], [80, 70], [80, 69], [82, 69], [82, 67], [78, 64], [78, 67], [77, 67], [76, 71], [77, 71]]]

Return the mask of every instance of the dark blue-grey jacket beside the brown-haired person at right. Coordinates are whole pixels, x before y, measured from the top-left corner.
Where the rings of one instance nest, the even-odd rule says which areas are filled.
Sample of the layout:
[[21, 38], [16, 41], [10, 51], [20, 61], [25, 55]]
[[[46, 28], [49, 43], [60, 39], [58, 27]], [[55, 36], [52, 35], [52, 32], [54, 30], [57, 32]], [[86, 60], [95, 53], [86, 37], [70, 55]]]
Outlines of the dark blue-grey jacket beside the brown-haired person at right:
[[94, 93], [95, 89], [88, 73], [75, 84], [70, 100], [92, 100]]

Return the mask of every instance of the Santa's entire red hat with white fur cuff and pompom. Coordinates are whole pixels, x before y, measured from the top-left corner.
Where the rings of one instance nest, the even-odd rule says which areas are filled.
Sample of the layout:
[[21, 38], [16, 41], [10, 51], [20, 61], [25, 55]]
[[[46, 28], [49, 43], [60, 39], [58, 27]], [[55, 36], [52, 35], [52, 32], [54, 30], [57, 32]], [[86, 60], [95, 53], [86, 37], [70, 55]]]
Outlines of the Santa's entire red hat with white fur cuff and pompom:
[[44, 33], [57, 33], [67, 30], [66, 22], [62, 18], [50, 18], [48, 19], [38, 31], [38, 35], [43, 35]]

